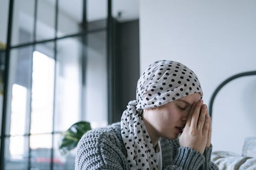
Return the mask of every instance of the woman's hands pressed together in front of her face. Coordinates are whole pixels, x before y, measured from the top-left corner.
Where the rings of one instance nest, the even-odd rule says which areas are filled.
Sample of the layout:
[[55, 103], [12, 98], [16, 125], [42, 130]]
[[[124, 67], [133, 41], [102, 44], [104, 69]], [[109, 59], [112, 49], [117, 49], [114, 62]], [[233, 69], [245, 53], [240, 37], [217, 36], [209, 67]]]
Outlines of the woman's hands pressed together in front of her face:
[[210, 147], [211, 119], [207, 106], [202, 100], [195, 102], [189, 111], [189, 116], [182, 134], [179, 137], [181, 147], [189, 147], [204, 153]]

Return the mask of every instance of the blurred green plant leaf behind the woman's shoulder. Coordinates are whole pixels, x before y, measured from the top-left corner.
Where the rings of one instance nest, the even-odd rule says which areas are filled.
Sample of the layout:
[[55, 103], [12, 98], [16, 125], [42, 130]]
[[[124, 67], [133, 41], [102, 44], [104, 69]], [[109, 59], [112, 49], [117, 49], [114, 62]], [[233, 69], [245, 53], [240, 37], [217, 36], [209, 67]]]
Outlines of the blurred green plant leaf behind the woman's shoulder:
[[59, 141], [59, 151], [62, 155], [67, 154], [70, 150], [76, 148], [78, 141], [83, 134], [91, 130], [88, 122], [78, 122], [73, 124], [67, 131], [61, 133]]

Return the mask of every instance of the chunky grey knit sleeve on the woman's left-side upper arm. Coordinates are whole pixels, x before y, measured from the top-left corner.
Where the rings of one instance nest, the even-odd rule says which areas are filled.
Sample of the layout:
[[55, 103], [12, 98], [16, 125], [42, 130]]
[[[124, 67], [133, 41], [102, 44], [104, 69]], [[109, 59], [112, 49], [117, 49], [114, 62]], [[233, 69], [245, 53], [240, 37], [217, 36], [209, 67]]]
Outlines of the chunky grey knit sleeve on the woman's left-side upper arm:
[[106, 129], [84, 134], [77, 145], [75, 169], [128, 169], [117, 136]]

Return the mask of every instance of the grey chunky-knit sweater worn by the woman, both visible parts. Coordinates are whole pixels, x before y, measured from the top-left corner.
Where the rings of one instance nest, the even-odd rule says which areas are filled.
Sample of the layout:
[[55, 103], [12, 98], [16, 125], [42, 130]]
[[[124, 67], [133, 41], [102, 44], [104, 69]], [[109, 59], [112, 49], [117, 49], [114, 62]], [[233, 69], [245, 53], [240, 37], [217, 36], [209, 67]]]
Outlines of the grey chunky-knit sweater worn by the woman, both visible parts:
[[[178, 140], [161, 139], [163, 169], [219, 169], [211, 162], [211, 149], [204, 154], [180, 147]], [[78, 145], [75, 169], [129, 169], [126, 161], [120, 123], [106, 128], [95, 129], [82, 136]]]

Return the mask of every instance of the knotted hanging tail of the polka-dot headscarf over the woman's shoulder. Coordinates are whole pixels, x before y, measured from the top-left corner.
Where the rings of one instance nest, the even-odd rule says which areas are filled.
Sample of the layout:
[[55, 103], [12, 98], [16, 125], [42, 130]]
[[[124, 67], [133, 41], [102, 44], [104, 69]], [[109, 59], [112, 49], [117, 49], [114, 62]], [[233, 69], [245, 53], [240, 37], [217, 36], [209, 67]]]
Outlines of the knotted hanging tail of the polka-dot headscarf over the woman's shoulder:
[[[142, 120], [137, 101], [130, 101], [121, 117], [121, 134], [130, 169], [158, 169], [153, 143]], [[151, 163], [147, 161], [151, 160]]]

